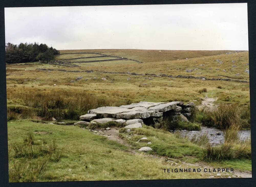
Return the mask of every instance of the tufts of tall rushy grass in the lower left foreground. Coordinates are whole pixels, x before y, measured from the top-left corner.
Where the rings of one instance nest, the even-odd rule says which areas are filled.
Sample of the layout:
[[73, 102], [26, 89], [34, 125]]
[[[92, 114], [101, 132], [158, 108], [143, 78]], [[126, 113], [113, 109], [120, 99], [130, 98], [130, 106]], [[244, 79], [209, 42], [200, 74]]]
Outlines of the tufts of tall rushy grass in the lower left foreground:
[[[12, 151], [14, 154], [11, 154]], [[34, 134], [29, 132], [23, 138], [23, 142], [14, 142], [10, 145], [8, 151], [9, 182], [38, 181], [38, 178], [44, 174], [48, 162], [58, 162], [62, 156], [62, 149], [58, 147], [55, 139], [46, 146], [44, 141], [39, 143]], [[42, 158], [34, 160], [39, 157]]]

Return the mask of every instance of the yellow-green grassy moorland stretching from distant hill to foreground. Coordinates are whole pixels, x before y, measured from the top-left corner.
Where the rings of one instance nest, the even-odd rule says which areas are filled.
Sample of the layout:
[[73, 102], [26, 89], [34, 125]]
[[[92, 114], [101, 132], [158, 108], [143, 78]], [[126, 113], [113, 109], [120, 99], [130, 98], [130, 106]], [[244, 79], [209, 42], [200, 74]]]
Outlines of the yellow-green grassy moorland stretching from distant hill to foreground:
[[[125, 142], [125, 144], [120, 144], [108, 140], [104, 136], [93, 134], [88, 129], [48, 124], [52, 122], [51, 117], [58, 121], [78, 121], [80, 115], [86, 114], [89, 109], [100, 106], [120, 106], [140, 101], [184, 101], [187, 103], [193, 100], [196, 100], [193, 101], [196, 105], [200, 105], [205, 97], [215, 98], [215, 105], [234, 104], [240, 110], [248, 113], [250, 105], [249, 74], [245, 72], [246, 69], [249, 69], [248, 51], [236, 53], [236, 51], [161, 50], [160, 52], [160, 50], [97, 49], [62, 50], [60, 52], [102, 53], [139, 60], [143, 63], [132, 60], [79, 63], [79, 61], [94, 59], [88, 58], [78, 59], [78, 61], [65, 60], [68, 65], [75, 64], [78, 67], [39, 62], [7, 64], [10, 181], [209, 178], [211, 174], [205, 172], [163, 172], [164, 168], [191, 167], [189, 164], [198, 163], [204, 163], [205, 167], [232, 167], [236, 170], [251, 171], [250, 158], [206, 160], [203, 159], [205, 146], [152, 127], [144, 126], [133, 132], [138, 136], [133, 136], [132, 139], [127, 139], [127, 134], [120, 132], [120, 138]], [[232, 54], [226, 54], [230, 52]], [[56, 59], [89, 56], [98, 55], [63, 54], [56, 56]], [[108, 60], [110, 57], [95, 58], [95, 60], [100, 59]], [[222, 62], [219, 63], [216, 61], [217, 59]], [[71, 61], [76, 62], [71, 63]], [[59, 71], [60, 69], [64, 71]], [[92, 72], [83, 72], [86, 70], [92, 70]], [[192, 71], [187, 72], [186, 70]], [[124, 73], [103, 73], [103, 71]], [[155, 75], [146, 75], [146, 73]], [[239, 75], [236, 75], [237, 73]], [[161, 74], [208, 79], [227, 78], [231, 81], [166, 77]], [[81, 80], [70, 82], [80, 76], [83, 77]], [[237, 80], [247, 82], [238, 82]], [[53, 86], [54, 84], [56, 86]], [[200, 90], [205, 90], [205, 92]], [[248, 115], [244, 114], [241, 118], [248, 120]], [[41, 123], [42, 121], [47, 123]], [[57, 139], [58, 147], [63, 150], [59, 159], [54, 159], [58, 152], [51, 151], [47, 154], [39, 151], [38, 154], [40, 154], [36, 158], [17, 156], [12, 145], [20, 144], [26, 147], [23, 144], [24, 137], [28, 132], [34, 134], [36, 140], [41, 140], [39, 142], [43, 142], [43, 147], [50, 146], [51, 142]], [[135, 143], [142, 136], [147, 136], [152, 141], [152, 152], [137, 151], [140, 146], [146, 145], [143, 142]], [[33, 145], [35, 150], [39, 150], [39, 145], [40, 143]], [[236, 144], [234, 150], [237, 150], [236, 148], [239, 146], [240, 143]], [[28, 150], [29, 148], [26, 147]], [[222, 150], [223, 147], [219, 149]], [[19, 177], [19, 172], [15, 169], [18, 167], [17, 164], [15, 165], [16, 161], [29, 166], [29, 163], [40, 163], [46, 157], [48, 158], [47, 167], [43, 168], [41, 172], [38, 171], [38, 168], [34, 168], [35, 175], [29, 176], [26, 174], [29, 168], [20, 166], [19, 172], [25, 174]], [[168, 157], [178, 165], [171, 166], [170, 162], [168, 164], [166, 160]], [[221, 175], [222, 177], [224, 176]]]

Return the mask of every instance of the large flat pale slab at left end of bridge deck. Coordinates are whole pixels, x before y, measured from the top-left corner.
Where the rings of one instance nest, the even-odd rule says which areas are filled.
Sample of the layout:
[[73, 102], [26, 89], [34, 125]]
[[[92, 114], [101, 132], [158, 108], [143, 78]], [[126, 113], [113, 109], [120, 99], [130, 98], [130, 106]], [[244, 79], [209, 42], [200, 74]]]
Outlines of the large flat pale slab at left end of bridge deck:
[[88, 114], [96, 114], [97, 118], [115, 118], [116, 114], [129, 111], [131, 110], [117, 106], [103, 106], [96, 109], [88, 110]]

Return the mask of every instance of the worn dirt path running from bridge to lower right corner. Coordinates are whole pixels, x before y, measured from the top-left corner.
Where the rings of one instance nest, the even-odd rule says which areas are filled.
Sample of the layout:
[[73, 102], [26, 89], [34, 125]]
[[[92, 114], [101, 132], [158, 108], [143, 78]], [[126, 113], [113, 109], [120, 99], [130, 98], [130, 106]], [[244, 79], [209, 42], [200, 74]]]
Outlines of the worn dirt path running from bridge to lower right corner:
[[[212, 101], [212, 100], [209, 99], [209, 101]], [[95, 129], [95, 130], [90, 130], [90, 131], [92, 133], [95, 133], [98, 135], [103, 135], [103, 136], [107, 137], [109, 140], [117, 141], [120, 144], [130, 147], [130, 149], [128, 151], [129, 153], [141, 155], [144, 157], [151, 157], [154, 159], [161, 159], [162, 162], [166, 162], [166, 164], [171, 164], [171, 165], [174, 164], [176, 166], [175, 168], [182, 167], [182, 165], [179, 165], [179, 163], [176, 163], [174, 161], [171, 161], [171, 160], [166, 161], [167, 157], [159, 156], [159, 155], [144, 154], [144, 153], [137, 152], [135, 149], [132, 149], [132, 146], [119, 136], [119, 128], [118, 127], [111, 127], [109, 130]], [[129, 138], [129, 136], [127, 138]], [[204, 163], [204, 162], [197, 162], [197, 163], [192, 164], [192, 163], [182, 161], [180, 164], [183, 164], [183, 167], [185, 165], [188, 168], [200, 168], [201, 171], [203, 171], [204, 168], [211, 169], [211, 170], [213, 170], [213, 168], [216, 168], [216, 167], [210, 166], [209, 164]], [[223, 172], [223, 173], [221, 172], [220, 173], [221, 176], [216, 176], [217, 172], [215, 174], [206, 172], [205, 174], [206, 174], [205, 175], [206, 178], [228, 178], [229, 176], [231, 178], [251, 178], [252, 177], [252, 173], [250, 171], [239, 171], [239, 170], [234, 170], [234, 172], [232, 172], [232, 173], [231, 172]]]

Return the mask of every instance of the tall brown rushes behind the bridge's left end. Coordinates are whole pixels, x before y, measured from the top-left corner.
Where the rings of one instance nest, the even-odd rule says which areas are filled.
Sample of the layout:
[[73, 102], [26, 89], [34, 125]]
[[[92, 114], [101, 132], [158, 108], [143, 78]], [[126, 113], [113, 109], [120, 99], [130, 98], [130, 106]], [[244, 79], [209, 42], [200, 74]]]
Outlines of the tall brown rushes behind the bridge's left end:
[[[96, 96], [83, 91], [67, 91], [58, 89], [23, 88], [22, 90], [7, 89], [7, 99], [21, 99], [26, 107], [8, 106], [9, 119], [16, 119], [14, 113], [20, 114], [22, 118], [30, 118], [27, 113], [38, 115], [49, 119], [54, 117], [60, 119], [79, 119], [89, 109], [101, 106], [120, 106], [125, 102], [117, 102], [114, 99]], [[17, 110], [18, 108], [18, 110]], [[28, 110], [32, 111], [28, 112]]]

